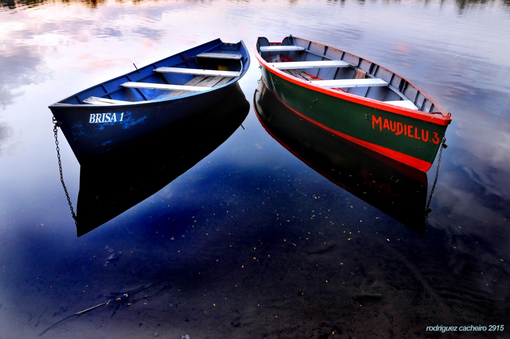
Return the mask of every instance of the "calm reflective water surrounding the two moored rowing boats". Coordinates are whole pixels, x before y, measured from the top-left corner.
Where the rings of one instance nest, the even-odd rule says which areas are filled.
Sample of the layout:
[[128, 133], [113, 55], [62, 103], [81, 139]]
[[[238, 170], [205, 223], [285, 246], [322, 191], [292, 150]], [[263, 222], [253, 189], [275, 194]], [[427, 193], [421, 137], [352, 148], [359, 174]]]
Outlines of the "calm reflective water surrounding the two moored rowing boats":
[[[507, 337], [507, 1], [1, 5], [1, 339]], [[88, 168], [80, 187], [80, 165], [60, 134], [74, 208], [93, 185], [153, 189], [76, 236], [49, 104], [214, 38], [251, 49], [257, 36], [288, 34], [380, 63], [452, 113], [422, 236], [381, 212], [381, 199], [363, 199], [370, 187], [353, 188], [364, 182], [347, 179], [361, 171], [354, 164], [369, 160], [341, 148], [352, 174], [323, 176], [330, 168], [300, 160], [266, 132], [253, 109], [253, 59], [239, 82], [249, 105], [234, 108], [246, 118], [223, 139], [197, 133], [203, 144], [190, 148], [181, 139], [145, 147], [131, 162]], [[181, 167], [161, 173], [162, 163]], [[427, 331], [436, 325], [487, 329]]]

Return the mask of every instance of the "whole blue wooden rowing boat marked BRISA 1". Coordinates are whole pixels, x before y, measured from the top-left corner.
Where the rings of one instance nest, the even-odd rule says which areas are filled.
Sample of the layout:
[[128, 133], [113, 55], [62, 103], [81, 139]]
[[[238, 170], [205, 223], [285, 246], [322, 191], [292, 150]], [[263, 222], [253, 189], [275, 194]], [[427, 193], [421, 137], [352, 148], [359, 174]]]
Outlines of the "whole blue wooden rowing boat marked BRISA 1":
[[216, 39], [73, 94], [49, 109], [81, 163], [215, 105], [249, 63], [242, 40]]

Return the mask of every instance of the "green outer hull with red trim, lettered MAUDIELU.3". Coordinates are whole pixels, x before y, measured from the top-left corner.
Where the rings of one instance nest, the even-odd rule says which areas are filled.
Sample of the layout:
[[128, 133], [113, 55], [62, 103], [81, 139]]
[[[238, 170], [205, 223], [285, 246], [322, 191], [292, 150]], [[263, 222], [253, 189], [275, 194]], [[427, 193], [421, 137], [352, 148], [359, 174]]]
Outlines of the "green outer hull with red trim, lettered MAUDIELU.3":
[[[257, 50], [257, 45], [256, 45]], [[426, 172], [450, 118], [313, 85], [271, 67], [259, 53], [262, 79], [285, 105], [314, 124]]]

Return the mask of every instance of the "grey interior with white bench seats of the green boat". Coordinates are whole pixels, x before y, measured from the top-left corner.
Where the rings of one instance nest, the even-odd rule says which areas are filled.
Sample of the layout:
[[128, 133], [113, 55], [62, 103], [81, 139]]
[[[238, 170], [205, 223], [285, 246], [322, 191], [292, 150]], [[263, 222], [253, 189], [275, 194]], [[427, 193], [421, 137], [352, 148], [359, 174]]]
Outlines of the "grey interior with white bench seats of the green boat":
[[257, 40], [268, 66], [314, 85], [413, 110], [441, 114], [413, 84], [366, 59], [289, 36], [282, 43]]

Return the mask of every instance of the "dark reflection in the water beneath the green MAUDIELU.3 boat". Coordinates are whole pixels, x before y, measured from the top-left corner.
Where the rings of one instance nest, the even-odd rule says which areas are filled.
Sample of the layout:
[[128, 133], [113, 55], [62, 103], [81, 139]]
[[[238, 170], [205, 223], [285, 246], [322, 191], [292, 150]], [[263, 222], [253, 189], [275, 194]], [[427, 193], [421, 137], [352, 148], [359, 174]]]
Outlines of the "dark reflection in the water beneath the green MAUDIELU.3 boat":
[[425, 233], [426, 173], [310, 123], [279, 101], [262, 80], [253, 106], [266, 131], [301, 161], [420, 236]]

